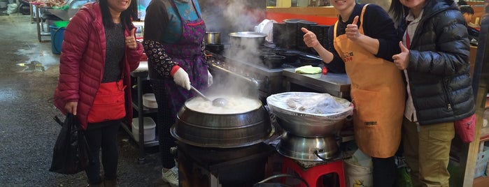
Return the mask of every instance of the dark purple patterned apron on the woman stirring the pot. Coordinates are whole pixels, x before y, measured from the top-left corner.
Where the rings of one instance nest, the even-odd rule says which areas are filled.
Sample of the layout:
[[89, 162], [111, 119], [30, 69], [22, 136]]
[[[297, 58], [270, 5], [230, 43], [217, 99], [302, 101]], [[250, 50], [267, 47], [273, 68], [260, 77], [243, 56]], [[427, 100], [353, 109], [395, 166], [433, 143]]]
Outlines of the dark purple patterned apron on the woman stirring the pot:
[[[162, 46], [169, 57], [188, 73], [190, 84], [197, 89], [204, 89], [207, 87], [208, 75], [205, 64], [206, 59], [201, 52], [201, 44], [206, 33], [206, 25], [198, 12], [197, 15], [199, 17], [197, 20], [187, 21], [178, 13], [178, 8], [176, 8], [173, 1], [171, 1], [171, 5], [182, 22], [182, 36], [178, 43], [162, 43]], [[197, 10], [193, 1], [192, 5]], [[175, 140], [170, 135], [170, 128], [176, 122], [178, 110], [183, 107], [185, 100], [194, 96], [194, 93], [173, 82], [172, 77], [163, 80], [150, 80], [150, 82], [158, 103], [157, 124], [162, 166], [171, 168], [175, 163], [173, 162], [173, 156], [170, 154], [170, 147], [175, 146]]]

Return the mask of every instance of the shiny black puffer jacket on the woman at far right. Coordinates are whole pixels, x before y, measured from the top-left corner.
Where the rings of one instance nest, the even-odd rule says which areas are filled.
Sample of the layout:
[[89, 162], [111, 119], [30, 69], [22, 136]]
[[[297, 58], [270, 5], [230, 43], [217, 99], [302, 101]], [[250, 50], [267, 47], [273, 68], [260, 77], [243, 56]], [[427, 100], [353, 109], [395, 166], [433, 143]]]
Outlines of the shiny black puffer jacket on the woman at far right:
[[[451, 0], [427, 0], [410, 47], [409, 87], [420, 125], [475, 112], [465, 20]], [[406, 30], [399, 23], [399, 36]]]

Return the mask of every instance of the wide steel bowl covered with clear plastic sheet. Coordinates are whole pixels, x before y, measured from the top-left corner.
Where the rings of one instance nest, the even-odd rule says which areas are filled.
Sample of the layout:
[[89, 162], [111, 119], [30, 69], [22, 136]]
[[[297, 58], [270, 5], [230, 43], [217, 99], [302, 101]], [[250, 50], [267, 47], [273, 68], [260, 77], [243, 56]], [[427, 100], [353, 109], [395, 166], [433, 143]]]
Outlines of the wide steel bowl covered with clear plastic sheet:
[[353, 104], [328, 93], [285, 92], [271, 95], [267, 104], [284, 130], [304, 137], [334, 135], [353, 114]]

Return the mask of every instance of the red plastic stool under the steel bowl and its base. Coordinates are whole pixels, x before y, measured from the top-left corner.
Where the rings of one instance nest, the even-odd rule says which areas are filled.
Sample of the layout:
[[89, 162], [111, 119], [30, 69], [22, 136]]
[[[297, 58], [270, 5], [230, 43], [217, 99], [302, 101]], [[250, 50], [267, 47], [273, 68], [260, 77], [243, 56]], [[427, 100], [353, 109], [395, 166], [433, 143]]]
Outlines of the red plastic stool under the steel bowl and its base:
[[[322, 165], [316, 165], [309, 168], [304, 168], [299, 165], [292, 158], [283, 158], [282, 173], [287, 173], [288, 169], [296, 172], [300, 177], [305, 179], [309, 186], [318, 187], [323, 186], [323, 181], [319, 181], [320, 177], [325, 174], [336, 172], [339, 177], [339, 186], [345, 187], [345, 172], [343, 170], [343, 160], [335, 160]], [[304, 183], [300, 184], [301, 187], [306, 187]]]

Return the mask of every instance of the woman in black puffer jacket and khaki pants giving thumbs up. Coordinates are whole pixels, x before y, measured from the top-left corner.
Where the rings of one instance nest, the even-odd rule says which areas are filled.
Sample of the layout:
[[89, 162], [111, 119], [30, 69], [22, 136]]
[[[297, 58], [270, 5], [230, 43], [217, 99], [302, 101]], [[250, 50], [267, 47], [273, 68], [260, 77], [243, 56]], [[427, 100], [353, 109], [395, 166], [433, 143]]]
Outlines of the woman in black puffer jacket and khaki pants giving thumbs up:
[[394, 0], [409, 93], [403, 122], [404, 156], [414, 186], [448, 186], [453, 121], [475, 112], [465, 19], [452, 0]]

